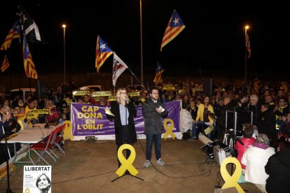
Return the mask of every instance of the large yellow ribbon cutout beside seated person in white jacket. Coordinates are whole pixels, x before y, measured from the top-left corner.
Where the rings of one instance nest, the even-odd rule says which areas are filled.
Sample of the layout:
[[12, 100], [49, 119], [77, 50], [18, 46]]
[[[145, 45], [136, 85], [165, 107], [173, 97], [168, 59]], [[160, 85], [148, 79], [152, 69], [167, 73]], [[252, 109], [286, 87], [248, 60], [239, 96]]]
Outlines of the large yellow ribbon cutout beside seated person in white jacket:
[[[228, 173], [228, 170], [226, 169], [227, 164], [235, 164], [235, 172], [232, 176], [230, 176], [230, 173]], [[242, 190], [242, 187], [240, 187], [240, 185], [237, 183], [237, 180], [240, 179], [241, 173], [242, 166], [237, 158], [227, 157], [226, 159], [223, 159], [223, 162], [221, 163], [221, 176], [226, 183], [223, 185], [223, 187], [221, 187], [221, 189], [235, 187], [237, 189], [237, 192], [244, 192], [244, 190]]]

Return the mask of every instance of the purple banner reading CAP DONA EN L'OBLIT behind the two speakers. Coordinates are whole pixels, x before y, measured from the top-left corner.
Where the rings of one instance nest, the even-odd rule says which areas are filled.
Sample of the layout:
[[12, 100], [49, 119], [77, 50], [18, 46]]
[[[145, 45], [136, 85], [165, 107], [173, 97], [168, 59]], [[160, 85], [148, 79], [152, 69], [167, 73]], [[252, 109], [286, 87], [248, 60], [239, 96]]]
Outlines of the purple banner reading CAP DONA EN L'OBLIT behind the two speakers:
[[[165, 103], [165, 106], [168, 110], [166, 120], [173, 121], [174, 129], [172, 131], [174, 133], [179, 132], [180, 101], [170, 101]], [[114, 135], [114, 123], [106, 118], [105, 107], [102, 105], [71, 103], [72, 134], [74, 136]], [[137, 116], [134, 118], [136, 131], [137, 134], [143, 134], [144, 118], [142, 106], [135, 106], [135, 108], [137, 110]]]

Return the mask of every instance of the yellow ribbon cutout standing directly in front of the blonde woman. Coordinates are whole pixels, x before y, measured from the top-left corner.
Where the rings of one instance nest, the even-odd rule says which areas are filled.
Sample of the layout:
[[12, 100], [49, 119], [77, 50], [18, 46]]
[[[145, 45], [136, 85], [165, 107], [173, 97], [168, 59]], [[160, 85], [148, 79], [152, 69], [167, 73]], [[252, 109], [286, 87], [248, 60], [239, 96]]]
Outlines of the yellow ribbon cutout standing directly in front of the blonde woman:
[[[130, 156], [127, 159], [125, 159], [123, 155], [123, 150], [130, 150], [131, 152]], [[134, 166], [132, 165], [135, 160], [135, 157], [136, 152], [132, 145], [124, 144], [120, 146], [120, 148], [118, 149], [118, 159], [122, 165], [116, 171], [116, 174], [119, 177], [122, 176], [126, 170], [129, 171], [132, 174], [132, 176], [136, 176], [137, 173], [139, 173], [139, 171], [137, 171], [137, 169], [135, 169]]]

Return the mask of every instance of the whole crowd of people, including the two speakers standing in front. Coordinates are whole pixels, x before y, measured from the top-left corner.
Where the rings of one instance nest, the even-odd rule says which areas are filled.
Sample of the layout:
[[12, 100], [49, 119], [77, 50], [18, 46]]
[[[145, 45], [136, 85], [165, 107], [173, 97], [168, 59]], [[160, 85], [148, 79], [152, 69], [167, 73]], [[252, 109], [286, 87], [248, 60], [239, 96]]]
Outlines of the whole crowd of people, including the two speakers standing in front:
[[[167, 89], [163, 89], [165, 87]], [[18, 122], [19, 119], [22, 119], [23, 124], [69, 120], [69, 104], [71, 102], [111, 106], [112, 113], [117, 116], [108, 116], [108, 118], [115, 121], [118, 149], [124, 143], [132, 144], [136, 141], [132, 117], [136, 115], [134, 105], [141, 104], [144, 115], [144, 134], [146, 134], [144, 167], [151, 164], [153, 143], [156, 149], [157, 163], [163, 166], [165, 162], [161, 159], [160, 152], [163, 125], [160, 121], [168, 113], [164, 103], [181, 100], [181, 108], [188, 110], [191, 114], [193, 141], [198, 139], [200, 133], [205, 134], [205, 130], [208, 128], [212, 128], [205, 134], [208, 138], [222, 140], [227, 129], [234, 127], [233, 129], [236, 134], [240, 134], [239, 137], [243, 142], [242, 144], [236, 142], [235, 149], [237, 150], [237, 159], [242, 164], [245, 180], [261, 185], [262, 191], [265, 191], [265, 187], [267, 187], [267, 191], [271, 192], [272, 186], [277, 185], [272, 181], [272, 183], [268, 183], [269, 180], [265, 185], [269, 175], [268, 179], [277, 175], [275, 173], [277, 171], [272, 169], [275, 167], [272, 162], [283, 159], [281, 161], [283, 164], [289, 164], [289, 159], [286, 159], [285, 155], [290, 146], [288, 142], [290, 136], [290, 91], [285, 82], [275, 86], [260, 84], [259, 87], [239, 87], [237, 85], [230, 85], [226, 88], [216, 87], [212, 93], [205, 95], [202, 92], [202, 84], [197, 85], [188, 80], [184, 83], [158, 85], [153, 90], [141, 90], [138, 91], [140, 92], [139, 96], [132, 97], [127, 96], [127, 93], [134, 92], [134, 90], [120, 88], [116, 92], [116, 101], [109, 101], [105, 96], [96, 100], [92, 97], [92, 92], [94, 90], [91, 90], [90, 94], [77, 98], [64, 93], [62, 87], [58, 87], [56, 93], [48, 88], [47, 96], [44, 99], [37, 99], [33, 96], [28, 97], [27, 101], [23, 101], [20, 96], [16, 96], [15, 99], [4, 99], [1, 101], [1, 125], [8, 130], [9, 125], [15, 121]], [[27, 117], [29, 110], [40, 108], [48, 109], [49, 114], [44, 117], [41, 115]], [[228, 112], [237, 113], [235, 124], [233, 117], [230, 117]], [[9, 113], [10, 115], [8, 115]], [[124, 133], [124, 131], [126, 132]], [[132, 131], [132, 133], [127, 133], [127, 131]], [[0, 135], [3, 136], [1, 131]], [[279, 151], [281, 154], [278, 155]], [[261, 155], [260, 158], [253, 156], [258, 154]], [[127, 152], [128, 156], [130, 156], [130, 152]], [[257, 166], [254, 166], [254, 163]], [[118, 165], [120, 166], [120, 163]], [[282, 170], [279, 171], [282, 173]], [[279, 182], [277, 183], [279, 184]]]

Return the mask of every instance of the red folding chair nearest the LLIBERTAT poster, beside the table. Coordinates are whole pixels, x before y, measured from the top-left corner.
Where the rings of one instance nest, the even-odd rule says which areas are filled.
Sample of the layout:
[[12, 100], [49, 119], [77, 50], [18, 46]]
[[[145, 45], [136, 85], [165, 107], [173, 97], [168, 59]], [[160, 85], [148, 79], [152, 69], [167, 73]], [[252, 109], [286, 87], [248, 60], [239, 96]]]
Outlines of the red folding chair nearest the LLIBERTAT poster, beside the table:
[[[46, 162], [46, 159], [44, 159], [44, 157], [46, 157], [46, 155], [50, 155], [50, 157], [52, 157], [55, 160], [55, 162], [56, 162], [55, 157], [57, 159], [58, 159], [58, 157], [51, 150], [52, 147], [53, 147], [53, 144], [54, 144], [56, 135], [57, 135], [57, 131], [56, 130], [55, 131], [52, 131], [48, 137], [46, 137], [46, 138], [43, 139], [43, 141], [39, 141], [39, 143], [34, 143], [33, 145], [30, 146], [30, 148], [32, 150], [34, 150], [34, 152], [36, 152], [36, 154], [39, 156], [38, 159], [36, 160], [35, 164], [37, 162], [39, 162], [40, 159], [42, 159], [44, 162]], [[37, 151], [40, 151], [40, 153], [37, 152]], [[50, 154], [50, 152], [53, 153], [53, 155], [55, 155], [55, 157], [53, 157]], [[48, 164], [48, 162], [46, 162], [46, 164]]]

